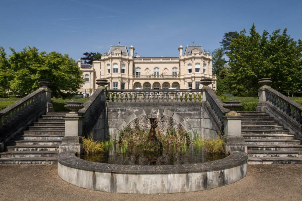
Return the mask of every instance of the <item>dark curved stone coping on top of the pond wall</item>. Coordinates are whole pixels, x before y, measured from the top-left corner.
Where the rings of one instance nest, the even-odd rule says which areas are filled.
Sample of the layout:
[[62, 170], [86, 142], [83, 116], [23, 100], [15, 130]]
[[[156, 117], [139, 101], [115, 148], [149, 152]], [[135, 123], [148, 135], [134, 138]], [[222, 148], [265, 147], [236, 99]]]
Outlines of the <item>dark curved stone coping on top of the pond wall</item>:
[[62, 152], [58, 155], [61, 165], [86, 171], [125, 173], [125, 174], [178, 174], [193, 172], [219, 171], [246, 164], [248, 155], [245, 152], [233, 151], [226, 158], [216, 161], [185, 165], [116, 165], [91, 162], [80, 159], [76, 152]]

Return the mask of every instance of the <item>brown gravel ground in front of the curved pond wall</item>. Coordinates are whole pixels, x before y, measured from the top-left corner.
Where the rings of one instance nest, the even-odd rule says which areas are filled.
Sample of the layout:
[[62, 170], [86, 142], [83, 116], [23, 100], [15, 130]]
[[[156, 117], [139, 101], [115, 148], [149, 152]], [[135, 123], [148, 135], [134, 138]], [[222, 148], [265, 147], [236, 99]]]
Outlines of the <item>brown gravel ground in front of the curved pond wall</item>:
[[0, 200], [302, 200], [302, 165], [249, 165], [245, 178], [190, 193], [115, 194], [61, 180], [56, 165], [0, 165]]

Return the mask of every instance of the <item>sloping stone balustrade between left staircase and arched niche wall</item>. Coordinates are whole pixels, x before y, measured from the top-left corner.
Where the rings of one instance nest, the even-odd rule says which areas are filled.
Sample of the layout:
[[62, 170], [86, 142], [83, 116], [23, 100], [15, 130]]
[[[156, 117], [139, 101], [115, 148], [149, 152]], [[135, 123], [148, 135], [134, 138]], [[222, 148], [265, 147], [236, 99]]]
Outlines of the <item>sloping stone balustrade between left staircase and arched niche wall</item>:
[[95, 93], [90, 96], [87, 102], [84, 104], [84, 108], [79, 110], [83, 118], [83, 133], [90, 132], [92, 126], [98, 120], [98, 116], [105, 108], [105, 90], [104, 88], [98, 88]]

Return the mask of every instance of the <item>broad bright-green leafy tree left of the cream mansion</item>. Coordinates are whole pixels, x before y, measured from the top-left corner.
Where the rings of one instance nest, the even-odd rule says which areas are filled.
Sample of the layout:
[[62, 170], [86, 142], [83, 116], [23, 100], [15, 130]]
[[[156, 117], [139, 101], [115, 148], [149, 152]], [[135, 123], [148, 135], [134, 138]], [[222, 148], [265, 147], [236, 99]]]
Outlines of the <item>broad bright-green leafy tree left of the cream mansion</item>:
[[[4, 50], [4, 49], [3, 49]], [[82, 87], [84, 79], [76, 61], [58, 52], [38, 52], [35, 47], [24, 48], [7, 60], [10, 71], [6, 75], [9, 90], [14, 96], [24, 97], [39, 88], [38, 80], [47, 79], [54, 97], [70, 97]], [[0, 63], [0, 69], [3, 69]], [[0, 77], [0, 83], [4, 79]]]

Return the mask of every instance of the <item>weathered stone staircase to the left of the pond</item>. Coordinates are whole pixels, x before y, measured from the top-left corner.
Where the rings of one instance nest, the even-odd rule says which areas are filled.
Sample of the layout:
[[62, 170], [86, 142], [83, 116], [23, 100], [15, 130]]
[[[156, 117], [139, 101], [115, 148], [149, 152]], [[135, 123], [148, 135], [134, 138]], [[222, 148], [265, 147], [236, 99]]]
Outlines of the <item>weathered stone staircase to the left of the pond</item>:
[[56, 164], [67, 112], [47, 112], [0, 152], [0, 164]]

